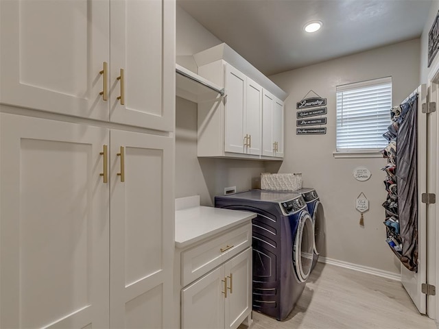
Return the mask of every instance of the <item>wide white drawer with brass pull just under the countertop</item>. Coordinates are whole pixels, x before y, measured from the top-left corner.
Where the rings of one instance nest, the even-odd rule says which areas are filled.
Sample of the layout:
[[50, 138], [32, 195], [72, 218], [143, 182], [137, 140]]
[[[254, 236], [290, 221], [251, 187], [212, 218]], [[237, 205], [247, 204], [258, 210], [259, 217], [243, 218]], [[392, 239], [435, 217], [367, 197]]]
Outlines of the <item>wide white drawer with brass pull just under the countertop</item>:
[[247, 223], [181, 253], [181, 284], [185, 287], [252, 245], [252, 224]]

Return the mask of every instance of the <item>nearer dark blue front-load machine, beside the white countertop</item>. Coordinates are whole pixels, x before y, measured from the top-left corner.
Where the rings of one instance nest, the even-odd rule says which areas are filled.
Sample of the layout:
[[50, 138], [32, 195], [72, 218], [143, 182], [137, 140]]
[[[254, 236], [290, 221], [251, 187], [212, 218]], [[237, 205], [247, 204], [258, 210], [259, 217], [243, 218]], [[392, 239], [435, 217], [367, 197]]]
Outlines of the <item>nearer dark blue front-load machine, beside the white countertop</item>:
[[215, 197], [215, 207], [257, 213], [252, 220], [252, 307], [285, 319], [313, 263], [313, 221], [302, 195], [247, 191]]

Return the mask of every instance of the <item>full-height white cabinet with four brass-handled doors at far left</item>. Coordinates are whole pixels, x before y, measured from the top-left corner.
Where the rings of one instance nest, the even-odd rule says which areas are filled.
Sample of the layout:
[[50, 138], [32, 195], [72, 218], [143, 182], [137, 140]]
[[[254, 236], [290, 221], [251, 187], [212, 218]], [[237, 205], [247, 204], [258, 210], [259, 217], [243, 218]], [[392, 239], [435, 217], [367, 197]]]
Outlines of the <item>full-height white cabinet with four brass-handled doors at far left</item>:
[[0, 15], [0, 328], [169, 328], [175, 2]]

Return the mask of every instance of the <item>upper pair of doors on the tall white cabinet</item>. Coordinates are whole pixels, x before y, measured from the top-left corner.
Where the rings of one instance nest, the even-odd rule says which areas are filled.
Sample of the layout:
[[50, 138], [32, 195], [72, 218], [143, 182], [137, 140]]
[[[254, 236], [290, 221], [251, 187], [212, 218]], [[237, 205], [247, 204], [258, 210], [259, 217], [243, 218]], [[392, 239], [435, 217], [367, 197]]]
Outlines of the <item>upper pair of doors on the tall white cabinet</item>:
[[163, 24], [174, 19], [171, 5], [1, 1], [0, 102], [174, 130], [167, 104], [174, 95], [174, 24]]

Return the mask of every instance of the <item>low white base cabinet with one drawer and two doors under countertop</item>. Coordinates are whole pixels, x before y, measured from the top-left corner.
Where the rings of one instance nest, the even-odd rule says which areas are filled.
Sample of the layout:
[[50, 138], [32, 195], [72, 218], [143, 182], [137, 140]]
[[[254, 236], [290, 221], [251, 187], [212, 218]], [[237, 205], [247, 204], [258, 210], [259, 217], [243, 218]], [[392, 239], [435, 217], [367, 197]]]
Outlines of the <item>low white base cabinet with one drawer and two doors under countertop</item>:
[[[180, 328], [236, 329], [252, 312], [251, 223], [177, 249]], [[177, 293], [177, 291], [176, 291]]]

